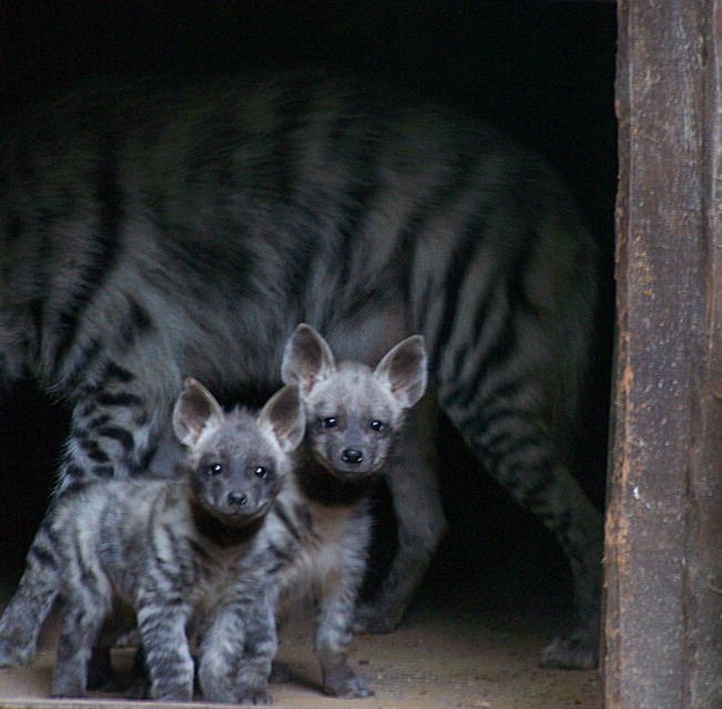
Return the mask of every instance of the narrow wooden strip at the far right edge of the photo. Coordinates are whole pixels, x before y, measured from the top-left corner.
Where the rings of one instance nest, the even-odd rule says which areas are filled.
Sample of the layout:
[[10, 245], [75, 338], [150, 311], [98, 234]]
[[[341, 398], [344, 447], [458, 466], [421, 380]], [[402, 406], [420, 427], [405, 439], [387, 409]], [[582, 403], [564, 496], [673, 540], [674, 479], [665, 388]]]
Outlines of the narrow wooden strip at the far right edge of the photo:
[[722, 0], [710, 2], [704, 74], [706, 314], [690, 467], [690, 707], [722, 707]]

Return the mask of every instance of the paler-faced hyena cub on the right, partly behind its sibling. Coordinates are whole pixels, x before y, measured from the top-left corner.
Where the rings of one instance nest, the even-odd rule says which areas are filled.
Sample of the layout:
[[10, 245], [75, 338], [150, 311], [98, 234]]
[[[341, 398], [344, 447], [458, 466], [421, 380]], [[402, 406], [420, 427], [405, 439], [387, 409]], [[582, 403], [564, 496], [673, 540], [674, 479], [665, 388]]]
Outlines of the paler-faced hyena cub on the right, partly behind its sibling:
[[354, 675], [346, 650], [370, 539], [369, 493], [406, 409], [426, 389], [424, 341], [404, 340], [372, 369], [358, 362], [336, 364], [326, 341], [302, 324], [286, 344], [282, 378], [299, 386], [308, 425], [295, 475], [307, 531], [289, 539], [293, 560], [279, 571], [281, 612], [311, 587], [324, 690], [365, 697], [368, 681]]

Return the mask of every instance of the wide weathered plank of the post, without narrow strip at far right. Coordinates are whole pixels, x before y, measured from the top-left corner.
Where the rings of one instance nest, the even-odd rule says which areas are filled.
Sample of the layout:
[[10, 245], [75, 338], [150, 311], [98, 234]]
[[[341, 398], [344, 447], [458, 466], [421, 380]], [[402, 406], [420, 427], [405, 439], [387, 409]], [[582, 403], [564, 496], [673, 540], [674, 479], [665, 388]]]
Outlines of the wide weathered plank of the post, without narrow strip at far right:
[[[687, 504], [705, 320], [704, 2], [621, 0], [608, 709], [690, 703]], [[695, 707], [711, 705], [694, 705]]]

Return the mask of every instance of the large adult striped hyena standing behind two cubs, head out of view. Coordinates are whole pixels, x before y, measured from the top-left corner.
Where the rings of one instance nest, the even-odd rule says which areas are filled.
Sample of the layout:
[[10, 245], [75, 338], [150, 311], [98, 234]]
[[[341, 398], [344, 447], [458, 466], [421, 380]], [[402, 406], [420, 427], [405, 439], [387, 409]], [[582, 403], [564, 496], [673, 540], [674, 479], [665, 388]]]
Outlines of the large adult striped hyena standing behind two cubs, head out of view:
[[[2, 386], [32, 375], [72, 407], [57, 498], [152, 468], [186, 375], [277, 386], [298, 322], [369, 365], [420, 333], [441, 408], [569, 558], [574, 626], [543, 661], [596, 661], [601, 516], [566, 459], [594, 249], [537, 156], [443, 108], [292, 73], [88, 87], [21, 119], [0, 162]], [[372, 630], [444, 529], [418, 431], [387, 468], [400, 553]], [[1, 665], [32, 656], [55, 597], [49, 519]]]

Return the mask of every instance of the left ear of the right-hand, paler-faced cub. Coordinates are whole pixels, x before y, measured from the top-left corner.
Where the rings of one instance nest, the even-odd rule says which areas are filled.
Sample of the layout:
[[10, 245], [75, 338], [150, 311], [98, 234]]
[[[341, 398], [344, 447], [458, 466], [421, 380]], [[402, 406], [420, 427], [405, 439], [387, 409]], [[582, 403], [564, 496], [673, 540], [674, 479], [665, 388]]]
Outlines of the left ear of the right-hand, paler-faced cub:
[[286, 343], [281, 365], [284, 384], [297, 384], [309, 394], [317, 382], [336, 368], [328, 343], [311, 326], [302, 323]]

